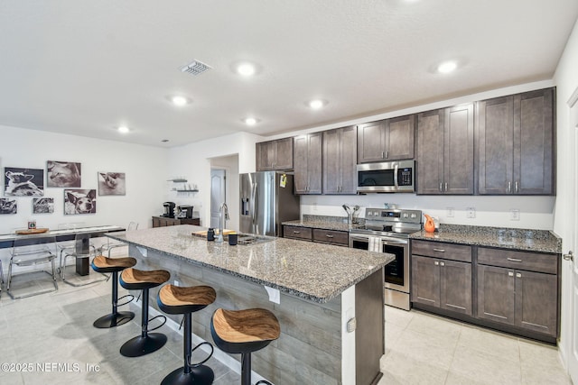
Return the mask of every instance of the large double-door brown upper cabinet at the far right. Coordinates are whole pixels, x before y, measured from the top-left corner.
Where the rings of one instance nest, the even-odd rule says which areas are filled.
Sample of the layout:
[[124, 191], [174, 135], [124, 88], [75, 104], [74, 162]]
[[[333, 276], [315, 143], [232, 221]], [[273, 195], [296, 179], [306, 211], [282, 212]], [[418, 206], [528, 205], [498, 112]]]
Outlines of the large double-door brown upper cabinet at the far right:
[[555, 88], [478, 102], [478, 190], [555, 195]]

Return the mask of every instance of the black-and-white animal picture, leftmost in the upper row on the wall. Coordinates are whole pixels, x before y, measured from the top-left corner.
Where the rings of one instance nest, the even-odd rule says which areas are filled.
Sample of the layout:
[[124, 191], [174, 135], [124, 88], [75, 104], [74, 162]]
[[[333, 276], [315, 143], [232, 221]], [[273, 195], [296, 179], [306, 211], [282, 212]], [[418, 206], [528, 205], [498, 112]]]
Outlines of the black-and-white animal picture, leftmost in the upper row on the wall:
[[43, 197], [44, 170], [5, 167], [5, 197]]

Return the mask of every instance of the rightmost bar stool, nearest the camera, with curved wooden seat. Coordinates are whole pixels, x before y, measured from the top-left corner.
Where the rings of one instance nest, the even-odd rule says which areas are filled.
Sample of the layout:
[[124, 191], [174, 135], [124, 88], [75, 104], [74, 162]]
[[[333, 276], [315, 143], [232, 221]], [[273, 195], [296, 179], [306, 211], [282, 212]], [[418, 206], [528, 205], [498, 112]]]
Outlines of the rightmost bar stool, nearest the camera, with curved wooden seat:
[[[251, 353], [279, 338], [281, 327], [273, 313], [263, 308], [224, 310], [210, 319], [210, 335], [225, 353], [241, 353], [241, 385], [251, 385]], [[269, 384], [266, 380], [257, 382]]]

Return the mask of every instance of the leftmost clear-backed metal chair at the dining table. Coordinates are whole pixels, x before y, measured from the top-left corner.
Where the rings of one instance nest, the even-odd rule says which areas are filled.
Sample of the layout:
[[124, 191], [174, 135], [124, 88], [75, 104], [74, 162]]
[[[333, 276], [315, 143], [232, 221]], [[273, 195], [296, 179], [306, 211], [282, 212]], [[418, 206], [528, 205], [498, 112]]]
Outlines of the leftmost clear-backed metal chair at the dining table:
[[[51, 291], [58, 290], [58, 284], [56, 283], [56, 266], [54, 265], [54, 259], [56, 258], [56, 237], [34, 237], [33, 235], [22, 235], [14, 240], [10, 264], [8, 265], [8, 278], [6, 280], [6, 292], [10, 298], [27, 298], [36, 296], [39, 294], [50, 293]], [[17, 268], [30, 268], [35, 265], [51, 263], [51, 273], [42, 270], [52, 276], [52, 283], [54, 284], [54, 289], [42, 289], [38, 291], [33, 291], [32, 293], [24, 294], [21, 296], [16, 296], [12, 292], [11, 288], [13, 270], [14, 267]], [[22, 274], [30, 274], [35, 271], [27, 271]]]

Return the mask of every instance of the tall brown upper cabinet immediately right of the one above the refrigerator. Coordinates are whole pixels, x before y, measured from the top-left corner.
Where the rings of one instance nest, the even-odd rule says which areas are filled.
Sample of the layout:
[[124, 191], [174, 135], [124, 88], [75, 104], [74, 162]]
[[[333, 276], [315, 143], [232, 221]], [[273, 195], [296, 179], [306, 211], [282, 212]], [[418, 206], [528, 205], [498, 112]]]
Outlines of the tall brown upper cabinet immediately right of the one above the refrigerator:
[[295, 194], [322, 193], [322, 133], [294, 137]]

